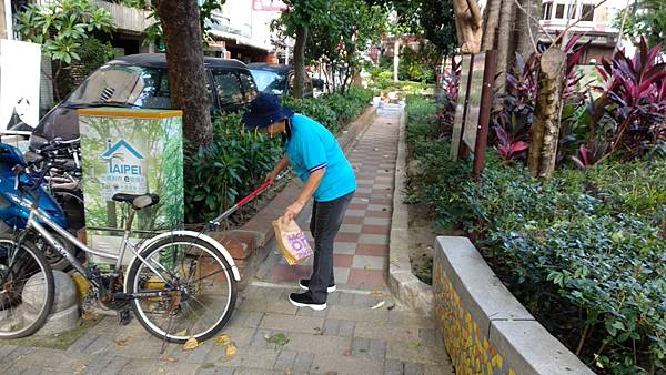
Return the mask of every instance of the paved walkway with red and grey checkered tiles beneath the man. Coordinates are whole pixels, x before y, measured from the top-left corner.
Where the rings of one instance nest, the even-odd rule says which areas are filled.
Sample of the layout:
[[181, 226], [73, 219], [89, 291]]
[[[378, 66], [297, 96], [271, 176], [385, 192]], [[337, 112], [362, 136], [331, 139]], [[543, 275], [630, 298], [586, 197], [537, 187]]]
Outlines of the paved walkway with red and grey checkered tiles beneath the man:
[[[452, 374], [434, 322], [396, 304], [384, 282], [397, 133], [396, 113], [380, 111], [350, 152], [359, 190], [336, 239], [339, 291], [327, 310], [289, 303], [311, 267], [290, 267], [272, 253], [223, 332], [238, 347], [233, 356], [213, 341], [192, 352], [170, 345], [160, 355], [162, 342], [135, 320], [120, 327], [107, 317], [64, 351], [0, 345], [1, 373]], [[304, 212], [304, 229], [309, 219]], [[269, 343], [279, 335], [283, 345]]]

